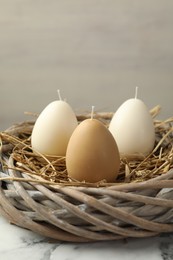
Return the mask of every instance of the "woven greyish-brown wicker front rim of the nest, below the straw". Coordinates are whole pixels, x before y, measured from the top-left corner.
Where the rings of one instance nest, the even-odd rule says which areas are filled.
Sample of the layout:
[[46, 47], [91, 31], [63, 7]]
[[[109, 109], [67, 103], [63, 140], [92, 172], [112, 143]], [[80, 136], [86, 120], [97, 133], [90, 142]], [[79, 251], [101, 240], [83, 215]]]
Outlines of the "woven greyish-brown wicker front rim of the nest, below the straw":
[[[17, 126], [20, 131], [20, 125]], [[32, 124], [28, 124], [32, 128]], [[151, 237], [173, 232], [173, 170], [141, 183], [109, 187], [73, 187], [26, 181], [14, 161], [0, 171], [0, 213], [10, 223], [45, 237], [94, 242]], [[7, 177], [7, 178], [6, 178]], [[23, 181], [8, 179], [22, 178]], [[5, 179], [6, 178], [6, 179]], [[31, 179], [31, 177], [30, 177]]]

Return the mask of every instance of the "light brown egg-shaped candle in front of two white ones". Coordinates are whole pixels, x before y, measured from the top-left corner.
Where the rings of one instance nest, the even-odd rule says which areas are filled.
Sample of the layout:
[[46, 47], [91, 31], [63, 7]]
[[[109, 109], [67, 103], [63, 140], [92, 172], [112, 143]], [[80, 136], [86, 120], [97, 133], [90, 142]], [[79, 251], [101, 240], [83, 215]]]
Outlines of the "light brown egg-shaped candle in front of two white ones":
[[86, 119], [74, 130], [67, 146], [69, 177], [90, 183], [115, 182], [120, 167], [116, 141], [96, 119]]

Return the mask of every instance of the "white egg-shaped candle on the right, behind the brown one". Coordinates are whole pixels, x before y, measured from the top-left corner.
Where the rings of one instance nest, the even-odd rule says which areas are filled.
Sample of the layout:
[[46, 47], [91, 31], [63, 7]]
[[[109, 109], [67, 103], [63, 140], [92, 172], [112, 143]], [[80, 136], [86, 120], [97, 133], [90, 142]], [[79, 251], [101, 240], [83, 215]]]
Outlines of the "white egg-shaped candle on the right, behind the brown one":
[[154, 122], [144, 102], [137, 98], [125, 101], [115, 112], [109, 130], [121, 156], [146, 156], [155, 144]]

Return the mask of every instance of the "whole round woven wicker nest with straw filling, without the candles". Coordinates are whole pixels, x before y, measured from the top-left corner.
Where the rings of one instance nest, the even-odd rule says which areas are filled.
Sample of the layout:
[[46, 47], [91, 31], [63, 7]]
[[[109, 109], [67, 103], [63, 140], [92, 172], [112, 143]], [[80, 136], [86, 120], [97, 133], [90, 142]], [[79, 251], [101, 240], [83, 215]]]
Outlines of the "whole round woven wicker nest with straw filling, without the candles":
[[[158, 111], [151, 110], [152, 116]], [[109, 124], [112, 113], [96, 117]], [[121, 159], [116, 183], [94, 184], [69, 179], [65, 158], [34, 154], [30, 147], [34, 122], [10, 127], [0, 133], [0, 213], [10, 223], [61, 241], [173, 232], [172, 121], [154, 119], [153, 152], [146, 158]]]

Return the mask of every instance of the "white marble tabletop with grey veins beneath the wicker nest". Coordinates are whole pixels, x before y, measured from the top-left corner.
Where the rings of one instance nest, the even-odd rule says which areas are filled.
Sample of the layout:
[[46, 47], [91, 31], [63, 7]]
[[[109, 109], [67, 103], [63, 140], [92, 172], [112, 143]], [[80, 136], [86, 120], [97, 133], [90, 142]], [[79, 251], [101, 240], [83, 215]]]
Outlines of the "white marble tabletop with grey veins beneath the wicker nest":
[[173, 235], [99, 243], [51, 243], [44, 237], [9, 224], [0, 217], [2, 260], [171, 260]]

